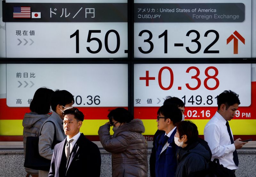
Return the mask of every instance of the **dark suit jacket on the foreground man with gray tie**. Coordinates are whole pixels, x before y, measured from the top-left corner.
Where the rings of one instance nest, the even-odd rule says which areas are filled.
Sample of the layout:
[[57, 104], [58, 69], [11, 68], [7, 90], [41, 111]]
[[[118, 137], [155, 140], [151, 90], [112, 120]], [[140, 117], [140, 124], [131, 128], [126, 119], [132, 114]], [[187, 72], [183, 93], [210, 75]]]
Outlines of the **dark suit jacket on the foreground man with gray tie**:
[[49, 177], [100, 176], [101, 158], [97, 145], [81, 133], [66, 162], [66, 143], [67, 138], [54, 147]]

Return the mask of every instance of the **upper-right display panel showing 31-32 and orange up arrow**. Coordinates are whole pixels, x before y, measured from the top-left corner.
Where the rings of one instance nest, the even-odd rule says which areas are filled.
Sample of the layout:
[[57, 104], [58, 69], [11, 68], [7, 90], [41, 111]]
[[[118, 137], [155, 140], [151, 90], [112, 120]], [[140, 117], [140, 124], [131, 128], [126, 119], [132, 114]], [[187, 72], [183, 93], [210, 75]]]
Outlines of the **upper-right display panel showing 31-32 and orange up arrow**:
[[251, 0], [135, 0], [134, 58], [256, 57], [253, 7]]

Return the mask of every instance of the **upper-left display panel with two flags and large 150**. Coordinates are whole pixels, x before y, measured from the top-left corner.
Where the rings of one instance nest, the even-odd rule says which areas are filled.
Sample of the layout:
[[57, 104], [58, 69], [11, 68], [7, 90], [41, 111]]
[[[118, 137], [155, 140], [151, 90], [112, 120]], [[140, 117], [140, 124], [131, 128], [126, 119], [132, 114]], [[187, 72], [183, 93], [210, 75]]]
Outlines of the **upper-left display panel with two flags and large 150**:
[[128, 57], [127, 1], [6, 0], [2, 5], [2, 58]]

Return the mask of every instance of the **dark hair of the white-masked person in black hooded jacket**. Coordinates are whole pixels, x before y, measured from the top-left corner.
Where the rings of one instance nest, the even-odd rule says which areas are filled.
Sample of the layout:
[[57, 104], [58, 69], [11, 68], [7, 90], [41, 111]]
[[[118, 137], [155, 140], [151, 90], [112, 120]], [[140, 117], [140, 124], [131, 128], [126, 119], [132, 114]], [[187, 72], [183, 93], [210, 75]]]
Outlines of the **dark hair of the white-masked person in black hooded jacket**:
[[196, 124], [189, 120], [179, 122], [177, 125], [177, 131], [181, 138], [183, 135], [187, 135], [187, 142], [185, 144], [191, 144], [198, 140], [198, 130]]

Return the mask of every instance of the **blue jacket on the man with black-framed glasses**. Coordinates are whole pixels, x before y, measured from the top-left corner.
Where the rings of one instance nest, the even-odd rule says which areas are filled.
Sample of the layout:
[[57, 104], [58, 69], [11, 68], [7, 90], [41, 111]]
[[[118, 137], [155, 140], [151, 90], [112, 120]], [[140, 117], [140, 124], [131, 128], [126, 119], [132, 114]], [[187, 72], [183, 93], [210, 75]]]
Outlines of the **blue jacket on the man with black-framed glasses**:
[[164, 135], [162, 133], [156, 138], [156, 177], [174, 177], [177, 160], [176, 160], [176, 150], [178, 146], [174, 143], [174, 135], [176, 129], [172, 132], [170, 138], [168, 139], [168, 147], [161, 153], [164, 144]]

